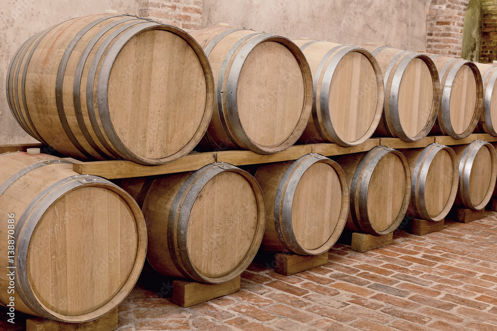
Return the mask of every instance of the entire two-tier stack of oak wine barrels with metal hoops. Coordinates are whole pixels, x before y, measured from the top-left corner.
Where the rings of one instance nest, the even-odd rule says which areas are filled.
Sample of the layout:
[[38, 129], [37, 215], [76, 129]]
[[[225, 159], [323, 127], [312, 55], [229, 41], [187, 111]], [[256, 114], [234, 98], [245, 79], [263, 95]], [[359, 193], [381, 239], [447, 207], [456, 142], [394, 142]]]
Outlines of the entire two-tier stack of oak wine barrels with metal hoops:
[[[136, 16], [91, 15], [22, 44], [6, 90], [20, 126], [55, 150], [155, 165], [195, 146], [270, 154], [299, 139], [347, 147], [373, 134], [416, 141], [431, 130], [463, 138], [478, 122], [493, 134], [493, 91], [481, 115], [487, 99], [479, 70], [488, 91], [494, 67], [460, 59], [292, 42], [229, 27], [189, 35]], [[245, 270], [261, 244], [317, 255], [344, 228], [383, 235], [408, 211], [439, 221], [454, 201], [481, 209], [496, 178], [494, 147], [482, 141], [454, 150], [377, 146], [333, 159], [312, 153], [258, 166], [254, 176], [213, 163], [122, 180], [129, 195], [52, 156], [5, 154], [0, 164], [0, 209], [12, 213], [13, 230], [23, 237], [14, 245], [18, 310], [64, 322], [92, 320], [117, 306], [145, 254], [163, 275], [225, 282]], [[54, 228], [60, 230], [51, 234]], [[66, 251], [54, 251], [63, 245]], [[0, 295], [0, 304], [6, 300]]]

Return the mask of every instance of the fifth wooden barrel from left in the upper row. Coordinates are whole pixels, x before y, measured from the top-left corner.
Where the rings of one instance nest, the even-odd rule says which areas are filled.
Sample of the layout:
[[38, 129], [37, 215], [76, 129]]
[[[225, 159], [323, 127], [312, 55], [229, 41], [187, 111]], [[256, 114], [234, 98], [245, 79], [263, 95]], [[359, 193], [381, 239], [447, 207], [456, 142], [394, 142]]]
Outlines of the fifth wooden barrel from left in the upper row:
[[482, 75], [463, 59], [433, 54], [440, 77], [441, 102], [431, 133], [467, 137], [475, 131], [483, 106]]

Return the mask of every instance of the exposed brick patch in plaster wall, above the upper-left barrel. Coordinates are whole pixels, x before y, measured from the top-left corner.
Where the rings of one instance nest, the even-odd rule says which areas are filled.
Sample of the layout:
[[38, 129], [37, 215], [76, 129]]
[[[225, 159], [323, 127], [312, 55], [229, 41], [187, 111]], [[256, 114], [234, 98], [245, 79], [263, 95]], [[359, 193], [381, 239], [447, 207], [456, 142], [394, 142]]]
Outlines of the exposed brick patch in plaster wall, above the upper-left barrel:
[[187, 31], [197, 30], [202, 24], [202, 0], [142, 0], [139, 15]]

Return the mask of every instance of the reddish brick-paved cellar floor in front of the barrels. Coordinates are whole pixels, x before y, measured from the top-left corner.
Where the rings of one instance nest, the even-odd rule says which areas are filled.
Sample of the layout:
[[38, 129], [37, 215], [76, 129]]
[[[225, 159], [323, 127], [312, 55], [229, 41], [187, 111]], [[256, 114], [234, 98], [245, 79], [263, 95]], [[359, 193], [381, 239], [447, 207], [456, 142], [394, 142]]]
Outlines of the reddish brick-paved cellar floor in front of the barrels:
[[327, 265], [293, 276], [270, 265], [252, 263], [239, 292], [190, 308], [171, 302], [172, 281], [141, 278], [118, 330], [497, 330], [497, 212], [424, 236], [397, 230], [367, 253], [337, 244]]

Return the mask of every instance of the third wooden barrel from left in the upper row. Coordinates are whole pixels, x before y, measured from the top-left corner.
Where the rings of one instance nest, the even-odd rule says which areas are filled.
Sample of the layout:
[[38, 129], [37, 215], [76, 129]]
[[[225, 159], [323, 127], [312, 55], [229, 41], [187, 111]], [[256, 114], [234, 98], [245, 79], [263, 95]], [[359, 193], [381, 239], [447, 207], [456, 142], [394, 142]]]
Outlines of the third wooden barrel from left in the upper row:
[[312, 116], [300, 137], [303, 143], [363, 143], [376, 130], [383, 111], [383, 75], [363, 48], [322, 40], [294, 41], [313, 74]]

